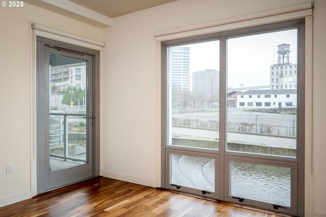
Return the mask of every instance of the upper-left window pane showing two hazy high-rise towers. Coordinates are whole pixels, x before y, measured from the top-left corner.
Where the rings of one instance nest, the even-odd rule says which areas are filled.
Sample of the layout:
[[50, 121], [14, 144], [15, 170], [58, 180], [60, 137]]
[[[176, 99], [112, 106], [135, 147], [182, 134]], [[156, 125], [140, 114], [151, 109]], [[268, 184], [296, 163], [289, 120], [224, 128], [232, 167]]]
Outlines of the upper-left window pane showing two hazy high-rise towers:
[[168, 145], [219, 149], [219, 47], [168, 48]]

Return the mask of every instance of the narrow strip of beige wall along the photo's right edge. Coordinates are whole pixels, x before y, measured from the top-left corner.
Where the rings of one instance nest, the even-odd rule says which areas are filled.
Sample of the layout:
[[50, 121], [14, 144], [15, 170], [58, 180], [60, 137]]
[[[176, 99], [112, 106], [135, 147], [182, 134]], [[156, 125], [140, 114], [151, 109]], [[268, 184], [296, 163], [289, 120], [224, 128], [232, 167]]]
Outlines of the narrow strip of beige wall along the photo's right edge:
[[325, 142], [325, 50], [326, 1], [315, 2], [313, 17], [313, 210], [314, 216], [326, 216], [326, 142]]

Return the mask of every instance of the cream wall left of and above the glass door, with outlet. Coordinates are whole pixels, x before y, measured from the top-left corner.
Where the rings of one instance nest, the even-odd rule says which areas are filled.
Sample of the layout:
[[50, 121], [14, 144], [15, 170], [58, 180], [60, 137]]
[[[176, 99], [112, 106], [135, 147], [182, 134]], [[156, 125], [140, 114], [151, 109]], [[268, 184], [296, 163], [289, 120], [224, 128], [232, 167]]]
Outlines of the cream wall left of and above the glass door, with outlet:
[[[21, 8], [0, 8], [0, 207], [36, 195], [36, 159], [31, 137], [32, 22], [102, 40], [101, 29], [26, 3]], [[12, 163], [13, 173], [7, 175], [8, 163]]]

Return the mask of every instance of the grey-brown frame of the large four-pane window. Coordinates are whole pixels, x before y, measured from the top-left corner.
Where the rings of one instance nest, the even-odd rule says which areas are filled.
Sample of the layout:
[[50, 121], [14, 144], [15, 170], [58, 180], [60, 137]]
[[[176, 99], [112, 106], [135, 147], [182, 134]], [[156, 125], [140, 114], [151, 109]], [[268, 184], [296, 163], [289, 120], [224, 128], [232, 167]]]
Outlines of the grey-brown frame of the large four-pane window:
[[[167, 144], [167, 88], [169, 86], [168, 80], [167, 80], [167, 47], [169, 46], [177, 46], [177, 45], [185, 45], [185, 44], [191, 44], [191, 43], [198, 43], [198, 42], [204, 42], [204, 41], [210, 41], [210, 40], [220, 40], [220, 148], [218, 151], [215, 151], [215, 154], [219, 155], [220, 157], [220, 177], [216, 177], [216, 179], [220, 180], [220, 192], [221, 197], [218, 197], [216, 199], [219, 200], [225, 200], [232, 203], [239, 203], [233, 198], [227, 197], [227, 194], [223, 190], [225, 189], [226, 184], [228, 183], [227, 177], [228, 177], [228, 171], [227, 171], [227, 165], [225, 160], [226, 157], [234, 157], [235, 159], [242, 159], [244, 155], [247, 155], [247, 153], [230, 153], [225, 150], [225, 141], [226, 141], [226, 105], [227, 105], [227, 99], [226, 99], [226, 50], [227, 50], [227, 39], [232, 37], [241, 37], [241, 36], [248, 36], [248, 35], [256, 35], [261, 33], [268, 33], [268, 32], [276, 32], [276, 31], [282, 31], [287, 29], [293, 29], [296, 28], [297, 31], [297, 135], [296, 135], [296, 143], [297, 143], [297, 149], [296, 149], [296, 158], [287, 158], [287, 157], [279, 157], [279, 156], [261, 156], [261, 155], [255, 155], [251, 154], [250, 156], [254, 160], [258, 160], [258, 162], [263, 162], [264, 160], [278, 160], [279, 162], [283, 162], [284, 165], [289, 164], [295, 164], [296, 165], [296, 174], [297, 176], [294, 177], [295, 180], [295, 189], [293, 189], [291, 197], [293, 197], [294, 194], [296, 194], [297, 200], [294, 202], [294, 205], [291, 206], [287, 210], [275, 210], [271, 209], [270, 207], [266, 207], [265, 205], [260, 206], [261, 208], [266, 208], [272, 211], [277, 212], [283, 212], [287, 214], [294, 214], [294, 215], [302, 215], [304, 214], [304, 161], [305, 161], [305, 154], [304, 154], [304, 142], [305, 142], [305, 19], [294, 19], [294, 20], [288, 20], [288, 21], [282, 21], [282, 22], [275, 22], [275, 23], [269, 23], [264, 25], [257, 25], [257, 26], [251, 26], [249, 28], [240, 28], [236, 30], [230, 30], [230, 31], [224, 31], [224, 32], [218, 32], [218, 33], [210, 33], [206, 35], [198, 35], [198, 36], [192, 36], [187, 38], [179, 38], [179, 39], [173, 39], [169, 41], [162, 41], [161, 42], [161, 105], [162, 105], [162, 187], [167, 187], [166, 177], [168, 176], [169, 172], [166, 170], [166, 151], [189, 151], [186, 148], [183, 147], [172, 147]], [[257, 33], [258, 32], [258, 33]], [[278, 71], [276, 71], [276, 74], [278, 74]], [[258, 97], [257, 97], [258, 98]], [[266, 97], [264, 97], [266, 98]], [[300, 103], [299, 103], [300, 102]], [[222, 106], [221, 106], [222, 105]], [[221, 115], [222, 114], [222, 115]], [[300, 124], [299, 124], [300, 123]], [[223, 129], [225, 130], [223, 132]], [[202, 150], [197, 150], [198, 153], [203, 153]], [[248, 159], [248, 158], [246, 158]], [[292, 186], [291, 186], [292, 187]], [[292, 203], [292, 201], [291, 201]], [[239, 203], [243, 204], [243, 203]], [[246, 203], [246, 205], [249, 206], [256, 206], [257, 204], [254, 203]]]

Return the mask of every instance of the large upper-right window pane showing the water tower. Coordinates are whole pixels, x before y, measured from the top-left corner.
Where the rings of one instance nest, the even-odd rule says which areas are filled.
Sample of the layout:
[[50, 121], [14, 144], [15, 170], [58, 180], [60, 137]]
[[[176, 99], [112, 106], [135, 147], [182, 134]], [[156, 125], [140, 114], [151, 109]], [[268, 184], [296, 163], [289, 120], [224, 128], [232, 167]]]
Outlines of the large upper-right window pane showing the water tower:
[[227, 40], [227, 151], [296, 157], [297, 30]]

